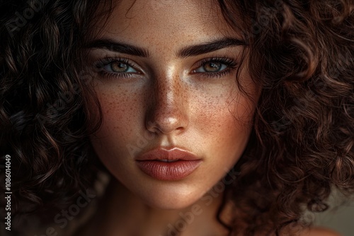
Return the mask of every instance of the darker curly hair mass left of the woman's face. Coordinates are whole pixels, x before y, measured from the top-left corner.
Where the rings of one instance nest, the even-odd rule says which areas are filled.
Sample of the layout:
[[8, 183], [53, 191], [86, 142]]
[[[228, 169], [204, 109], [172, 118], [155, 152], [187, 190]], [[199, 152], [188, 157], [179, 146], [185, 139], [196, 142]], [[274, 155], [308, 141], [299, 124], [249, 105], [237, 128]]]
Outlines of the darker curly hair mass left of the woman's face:
[[[10, 155], [13, 212], [65, 206], [96, 178], [88, 135], [98, 105], [80, 50], [98, 1], [2, 2], [0, 148]], [[19, 11], [19, 12], [18, 12]], [[99, 109], [99, 107], [98, 107]], [[90, 130], [87, 128], [89, 127]]]

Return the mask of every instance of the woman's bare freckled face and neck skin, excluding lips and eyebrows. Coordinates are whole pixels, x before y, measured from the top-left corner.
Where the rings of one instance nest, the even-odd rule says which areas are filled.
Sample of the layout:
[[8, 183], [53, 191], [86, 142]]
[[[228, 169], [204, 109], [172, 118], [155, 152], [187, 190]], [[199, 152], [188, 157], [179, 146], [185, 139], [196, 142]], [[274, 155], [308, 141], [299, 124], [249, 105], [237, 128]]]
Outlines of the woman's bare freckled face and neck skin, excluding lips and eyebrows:
[[[217, 57], [236, 64], [247, 54], [242, 45], [185, 57], [178, 52], [225, 37], [241, 40], [240, 35], [229, 28], [213, 1], [121, 1], [95, 29], [87, 59], [100, 71], [93, 83], [103, 125], [91, 143], [116, 180], [94, 226], [82, 235], [163, 235], [195, 205], [202, 214], [182, 235], [226, 235], [215, 220], [222, 193], [209, 204], [203, 196], [241, 157], [261, 88], [251, 80], [246, 64], [237, 76], [235, 65], [202, 62]], [[113, 52], [109, 45], [98, 46], [102, 39], [148, 53]], [[105, 58], [125, 61], [102, 62]], [[207, 71], [212, 62], [224, 73]], [[157, 147], [190, 151], [202, 164], [184, 179], [154, 179], [139, 170], [134, 158]]]

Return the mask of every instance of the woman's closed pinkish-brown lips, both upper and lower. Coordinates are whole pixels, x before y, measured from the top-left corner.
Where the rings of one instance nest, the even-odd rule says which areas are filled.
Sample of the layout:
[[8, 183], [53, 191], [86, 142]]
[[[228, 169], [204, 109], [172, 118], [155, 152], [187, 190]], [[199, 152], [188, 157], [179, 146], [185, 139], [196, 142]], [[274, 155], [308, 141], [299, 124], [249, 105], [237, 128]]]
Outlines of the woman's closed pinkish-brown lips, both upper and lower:
[[181, 148], [156, 148], [135, 160], [142, 172], [159, 180], [183, 179], [202, 163], [201, 158]]

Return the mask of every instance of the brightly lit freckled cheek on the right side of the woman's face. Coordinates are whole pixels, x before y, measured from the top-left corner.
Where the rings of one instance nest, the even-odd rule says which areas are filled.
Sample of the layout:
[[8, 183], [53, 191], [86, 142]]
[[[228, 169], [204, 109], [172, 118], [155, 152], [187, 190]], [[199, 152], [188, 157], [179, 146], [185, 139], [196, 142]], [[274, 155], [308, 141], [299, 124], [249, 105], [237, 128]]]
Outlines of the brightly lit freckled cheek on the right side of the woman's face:
[[202, 118], [195, 124], [198, 124], [199, 136], [204, 141], [202, 146], [212, 163], [208, 165], [207, 172], [222, 178], [244, 152], [256, 105], [239, 92], [214, 98], [213, 101], [203, 106], [205, 108], [199, 116]]

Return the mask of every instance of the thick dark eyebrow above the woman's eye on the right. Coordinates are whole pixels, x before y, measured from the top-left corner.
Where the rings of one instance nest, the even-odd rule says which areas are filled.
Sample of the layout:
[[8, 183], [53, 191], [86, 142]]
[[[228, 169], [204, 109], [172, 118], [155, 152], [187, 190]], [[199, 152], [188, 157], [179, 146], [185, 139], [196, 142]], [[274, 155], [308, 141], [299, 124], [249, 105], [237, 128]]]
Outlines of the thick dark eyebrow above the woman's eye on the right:
[[178, 52], [178, 57], [197, 56], [208, 52], [214, 52], [225, 47], [233, 47], [240, 45], [246, 46], [247, 44], [242, 40], [238, 40], [232, 37], [226, 37], [212, 42], [207, 42], [202, 45], [193, 45], [185, 47]]

